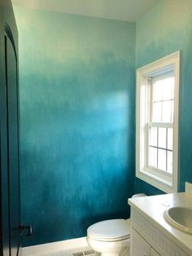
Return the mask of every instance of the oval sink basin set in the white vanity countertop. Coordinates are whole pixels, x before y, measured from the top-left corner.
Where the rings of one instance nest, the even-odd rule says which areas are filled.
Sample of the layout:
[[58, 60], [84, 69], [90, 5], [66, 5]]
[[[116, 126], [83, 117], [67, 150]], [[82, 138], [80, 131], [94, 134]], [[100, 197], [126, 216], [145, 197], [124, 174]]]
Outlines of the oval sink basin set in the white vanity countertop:
[[164, 219], [172, 227], [192, 234], [192, 209], [187, 207], [170, 207], [164, 211]]

